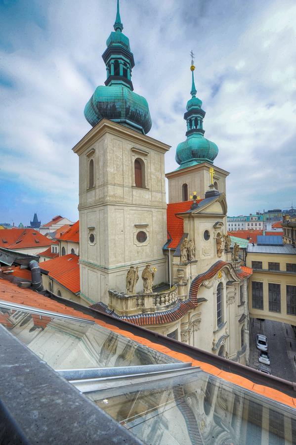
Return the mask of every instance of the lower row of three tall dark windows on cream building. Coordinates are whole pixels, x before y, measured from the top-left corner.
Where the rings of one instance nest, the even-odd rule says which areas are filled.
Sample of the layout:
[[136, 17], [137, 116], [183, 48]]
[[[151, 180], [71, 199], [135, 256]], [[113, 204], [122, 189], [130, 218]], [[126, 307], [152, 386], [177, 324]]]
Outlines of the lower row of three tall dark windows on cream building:
[[[287, 313], [296, 315], [296, 286], [286, 286]], [[252, 307], [263, 308], [263, 283], [252, 281]], [[268, 310], [270, 312], [281, 312], [281, 285], [268, 283]]]

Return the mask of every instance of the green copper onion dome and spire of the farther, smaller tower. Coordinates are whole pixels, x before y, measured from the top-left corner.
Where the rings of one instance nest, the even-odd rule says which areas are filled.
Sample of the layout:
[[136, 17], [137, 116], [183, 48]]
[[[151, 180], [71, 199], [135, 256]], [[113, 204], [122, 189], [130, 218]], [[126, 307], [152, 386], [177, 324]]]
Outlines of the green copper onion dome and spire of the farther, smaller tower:
[[212, 164], [218, 154], [217, 145], [204, 137], [203, 120], [206, 112], [202, 109], [201, 99], [196, 97], [193, 60], [191, 61], [190, 70], [192, 72], [192, 87], [190, 91], [192, 97], [187, 102], [187, 112], [184, 114], [184, 119], [187, 122], [187, 139], [180, 142], [176, 149], [175, 160], [180, 165], [177, 170], [201, 164], [202, 162]]

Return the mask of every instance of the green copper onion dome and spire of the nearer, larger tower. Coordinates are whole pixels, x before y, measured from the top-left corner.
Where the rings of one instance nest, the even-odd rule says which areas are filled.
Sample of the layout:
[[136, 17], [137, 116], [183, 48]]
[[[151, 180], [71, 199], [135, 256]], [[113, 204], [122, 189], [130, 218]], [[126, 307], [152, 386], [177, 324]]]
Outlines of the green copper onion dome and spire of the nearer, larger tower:
[[151, 130], [152, 121], [147, 100], [133, 91], [131, 70], [134, 67], [129, 40], [122, 32], [119, 0], [114, 32], [107, 39], [107, 49], [102, 55], [106, 65], [105, 86], [95, 89], [85, 105], [85, 119], [94, 127], [106, 118], [140, 133]]

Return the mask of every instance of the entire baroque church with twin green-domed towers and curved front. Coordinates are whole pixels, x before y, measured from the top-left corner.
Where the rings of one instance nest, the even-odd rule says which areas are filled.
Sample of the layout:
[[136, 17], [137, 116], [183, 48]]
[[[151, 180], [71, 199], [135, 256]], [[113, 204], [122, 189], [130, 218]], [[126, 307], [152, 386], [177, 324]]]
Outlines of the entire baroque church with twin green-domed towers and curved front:
[[[133, 91], [134, 66], [119, 1], [102, 55], [107, 79], [85, 106], [92, 129], [79, 156], [81, 298], [159, 334], [248, 363], [248, 279], [227, 235], [226, 177], [213, 166], [216, 144], [204, 137], [205, 111], [192, 88], [176, 148], [147, 135], [146, 99]], [[166, 202], [165, 177], [169, 181]], [[191, 194], [191, 195], [190, 195]]]

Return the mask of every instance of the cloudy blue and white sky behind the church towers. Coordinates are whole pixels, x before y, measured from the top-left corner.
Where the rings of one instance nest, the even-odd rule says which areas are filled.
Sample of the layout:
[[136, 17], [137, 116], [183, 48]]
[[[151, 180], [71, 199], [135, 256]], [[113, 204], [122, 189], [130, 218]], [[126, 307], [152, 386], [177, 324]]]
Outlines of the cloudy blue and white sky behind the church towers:
[[[72, 147], [90, 129], [115, 15], [116, 0], [0, 0], [0, 222], [78, 219]], [[295, 0], [121, 0], [121, 16], [149, 135], [171, 145], [166, 172], [185, 139], [193, 49], [228, 214], [296, 206]]]

